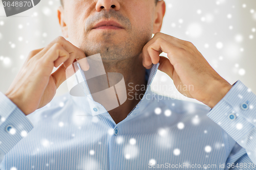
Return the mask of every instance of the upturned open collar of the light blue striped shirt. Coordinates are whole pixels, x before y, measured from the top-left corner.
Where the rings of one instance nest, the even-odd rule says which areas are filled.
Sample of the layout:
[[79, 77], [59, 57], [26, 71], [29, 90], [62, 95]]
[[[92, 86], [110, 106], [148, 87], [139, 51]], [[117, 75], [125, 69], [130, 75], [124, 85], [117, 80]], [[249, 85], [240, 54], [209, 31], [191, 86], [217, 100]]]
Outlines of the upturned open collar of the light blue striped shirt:
[[[94, 101], [92, 98], [92, 95], [90, 93], [89, 87], [87, 85], [87, 81], [84, 77], [83, 70], [80, 68], [79, 64], [77, 64], [79, 67], [79, 71], [76, 72], [76, 80], [79, 83], [82, 91], [81, 96], [72, 96], [75, 104], [83, 110], [84, 114], [88, 115], [97, 115], [102, 113], [108, 113], [106, 109], [98, 102]], [[159, 67], [159, 63], [153, 64], [151, 69], [146, 69], [145, 73], [145, 80], [147, 82], [146, 91], [143, 95], [143, 98], [139, 101], [139, 103], [134, 107], [134, 109], [128, 114], [128, 115], [134, 115], [137, 114], [141, 109], [144, 108], [145, 104], [148, 102], [148, 100], [151, 99], [152, 91], [151, 91], [151, 83], [156, 75], [157, 69]], [[145, 96], [147, 96], [145, 98]], [[88, 107], [88, 103], [90, 107]]]

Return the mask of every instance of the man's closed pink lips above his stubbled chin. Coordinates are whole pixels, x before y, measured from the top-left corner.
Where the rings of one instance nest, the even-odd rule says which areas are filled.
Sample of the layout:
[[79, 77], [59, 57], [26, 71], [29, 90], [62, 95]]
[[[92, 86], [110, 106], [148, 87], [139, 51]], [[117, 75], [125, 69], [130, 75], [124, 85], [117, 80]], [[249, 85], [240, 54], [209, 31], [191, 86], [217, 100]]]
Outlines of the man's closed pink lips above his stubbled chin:
[[108, 20], [108, 21], [100, 21], [94, 25], [93, 29], [96, 30], [120, 30], [124, 29], [120, 23], [114, 21], [114, 20]]

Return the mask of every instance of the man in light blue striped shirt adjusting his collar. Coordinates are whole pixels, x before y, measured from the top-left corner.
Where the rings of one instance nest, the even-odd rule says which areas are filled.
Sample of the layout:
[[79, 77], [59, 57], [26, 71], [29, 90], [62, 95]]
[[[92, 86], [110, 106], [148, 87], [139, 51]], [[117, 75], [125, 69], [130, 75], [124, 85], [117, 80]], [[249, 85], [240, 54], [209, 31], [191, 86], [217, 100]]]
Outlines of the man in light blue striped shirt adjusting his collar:
[[[159, 33], [164, 13], [164, 1], [65, 0], [58, 18], [70, 42], [58, 37], [32, 51], [1, 94], [0, 169], [255, 169], [255, 94], [230, 85], [191, 42]], [[121, 73], [130, 95], [143, 98], [96, 116], [86, 98], [52, 100], [69, 66], [98, 53], [105, 71]], [[90, 65], [79, 64], [82, 79]], [[157, 69], [176, 87], [193, 85], [178, 90], [207, 106], [157, 100]]]

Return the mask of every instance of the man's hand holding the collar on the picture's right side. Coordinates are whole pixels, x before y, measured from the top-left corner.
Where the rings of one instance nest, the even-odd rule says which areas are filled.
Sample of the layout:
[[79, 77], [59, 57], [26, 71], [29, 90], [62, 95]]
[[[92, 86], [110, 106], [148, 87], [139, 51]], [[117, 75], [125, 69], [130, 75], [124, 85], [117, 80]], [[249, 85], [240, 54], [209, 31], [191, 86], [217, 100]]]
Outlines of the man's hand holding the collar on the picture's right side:
[[[162, 52], [167, 57], [159, 56]], [[178, 91], [213, 108], [232, 87], [206, 61], [195, 45], [156, 33], [142, 50], [143, 66], [160, 63], [158, 69], [173, 79]]]

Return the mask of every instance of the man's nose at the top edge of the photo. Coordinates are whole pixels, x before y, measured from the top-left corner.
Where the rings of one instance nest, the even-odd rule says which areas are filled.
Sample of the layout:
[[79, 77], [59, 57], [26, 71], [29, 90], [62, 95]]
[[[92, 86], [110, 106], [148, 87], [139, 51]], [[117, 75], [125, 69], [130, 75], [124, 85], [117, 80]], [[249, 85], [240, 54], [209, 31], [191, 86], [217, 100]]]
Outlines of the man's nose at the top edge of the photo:
[[98, 0], [96, 10], [99, 12], [102, 9], [105, 9], [106, 11], [111, 9], [118, 11], [120, 9], [120, 4], [118, 0]]

